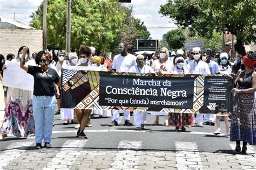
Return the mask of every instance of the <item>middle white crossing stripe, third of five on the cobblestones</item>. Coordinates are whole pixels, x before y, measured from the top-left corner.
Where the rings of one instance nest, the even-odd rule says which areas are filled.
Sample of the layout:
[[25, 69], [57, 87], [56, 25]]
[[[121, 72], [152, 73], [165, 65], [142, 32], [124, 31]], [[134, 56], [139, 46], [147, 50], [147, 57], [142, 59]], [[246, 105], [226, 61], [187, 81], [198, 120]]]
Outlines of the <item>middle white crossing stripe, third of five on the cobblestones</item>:
[[110, 169], [136, 168], [142, 151], [142, 141], [122, 140], [118, 145], [118, 152], [113, 159]]

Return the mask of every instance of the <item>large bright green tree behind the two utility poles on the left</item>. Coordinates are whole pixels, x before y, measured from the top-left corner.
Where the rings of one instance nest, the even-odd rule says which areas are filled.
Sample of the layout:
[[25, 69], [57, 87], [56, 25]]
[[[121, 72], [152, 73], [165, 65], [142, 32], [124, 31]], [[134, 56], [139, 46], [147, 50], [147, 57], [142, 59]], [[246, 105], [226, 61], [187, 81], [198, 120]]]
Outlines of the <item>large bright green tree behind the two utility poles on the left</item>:
[[[97, 52], [109, 52], [113, 45], [134, 38], [149, 37], [146, 27], [138, 19], [128, 16], [117, 1], [76, 0], [71, 3], [71, 48], [80, 45], [96, 47]], [[43, 4], [31, 15], [31, 26], [42, 29]], [[129, 19], [129, 20], [127, 20]], [[133, 29], [123, 29], [124, 25]], [[128, 27], [128, 26], [127, 26]], [[125, 32], [125, 33], [124, 33]], [[127, 34], [127, 36], [122, 36]], [[129, 36], [130, 35], [130, 36]], [[47, 38], [52, 48], [64, 49], [66, 45], [66, 1], [48, 0]], [[118, 41], [118, 42], [116, 42]]]

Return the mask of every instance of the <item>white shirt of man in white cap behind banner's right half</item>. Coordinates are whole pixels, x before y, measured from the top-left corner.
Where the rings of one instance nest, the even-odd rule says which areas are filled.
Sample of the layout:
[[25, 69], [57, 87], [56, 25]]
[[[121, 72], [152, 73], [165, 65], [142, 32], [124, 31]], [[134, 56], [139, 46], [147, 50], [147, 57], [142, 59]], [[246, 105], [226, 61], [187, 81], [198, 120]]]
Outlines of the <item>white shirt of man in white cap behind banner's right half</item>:
[[204, 61], [190, 62], [187, 65], [187, 69], [190, 71], [190, 74], [211, 74], [210, 68]]

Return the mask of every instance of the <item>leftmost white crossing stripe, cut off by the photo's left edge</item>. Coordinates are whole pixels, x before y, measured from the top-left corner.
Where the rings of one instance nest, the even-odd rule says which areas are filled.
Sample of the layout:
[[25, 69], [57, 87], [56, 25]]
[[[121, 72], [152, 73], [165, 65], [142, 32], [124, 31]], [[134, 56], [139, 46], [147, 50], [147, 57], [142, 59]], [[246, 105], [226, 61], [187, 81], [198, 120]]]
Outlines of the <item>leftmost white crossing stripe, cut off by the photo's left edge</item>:
[[16, 142], [12, 143], [0, 153], [0, 169], [3, 169], [6, 165], [26, 151], [26, 148], [32, 145], [33, 141]]

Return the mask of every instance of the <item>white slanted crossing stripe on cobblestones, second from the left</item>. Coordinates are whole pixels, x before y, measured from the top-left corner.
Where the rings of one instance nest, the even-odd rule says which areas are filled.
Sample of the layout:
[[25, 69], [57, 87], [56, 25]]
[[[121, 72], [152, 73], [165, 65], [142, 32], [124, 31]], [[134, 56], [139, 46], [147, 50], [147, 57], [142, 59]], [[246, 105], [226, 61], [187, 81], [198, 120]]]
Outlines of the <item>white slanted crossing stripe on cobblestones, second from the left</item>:
[[[60, 151], [43, 169], [69, 169], [79, 157], [88, 140], [67, 140]], [[67, 157], [68, 156], [68, 157]]]

